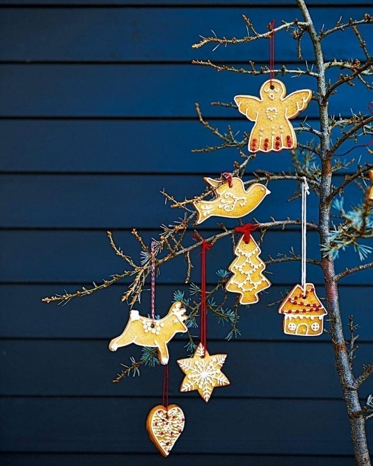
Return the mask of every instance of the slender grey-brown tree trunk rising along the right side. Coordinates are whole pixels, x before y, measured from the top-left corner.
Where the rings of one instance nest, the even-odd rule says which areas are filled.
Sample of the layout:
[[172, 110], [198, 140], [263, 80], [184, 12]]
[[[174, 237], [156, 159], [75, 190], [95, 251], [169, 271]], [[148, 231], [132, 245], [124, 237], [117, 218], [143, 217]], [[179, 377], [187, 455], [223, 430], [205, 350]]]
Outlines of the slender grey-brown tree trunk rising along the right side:
[[[315, 27], [305, 6], [304, 0], [296, 0], [302, 12], [305, 21], [308, 22], [308, 31], [312, 40], [315, 52], [315, 61], [319, 77], [318, 85], [318, 105], [320, 114], [320, 131], [321, 131], [321, 188], [319, 204], [319, 225], [321, 244], [329, 243], [330, 228], [330, 207], [331, 201], [328, 199], [331, 191], [332, 169], [331, 159], [333, 154], [330, 153], [330, 134], [328, 124], [328, 101], [325, 97], [325, 69], [323, 65], [323, 55], [320, 40], [317, 37]], [[357, 466], [371, 466], [367, 437], [365, 433], [365, 419], [361, 412], [361, 406], [354, 385], [355, 378], [348, 360], [346, 344], [343, 334], [342, 321], [339, 309], [338, 284], [335, 280], [334, 261], [322, 258], [322, 270], [324, 274], [326, 307], [330, 320], [330, 335], [334, 346], [336, 367], [339, 375], [340, 386], [343, 393], [343, 399], [346, 403], [347, 414], [350, 419], [351, 437], [355, 452]]]

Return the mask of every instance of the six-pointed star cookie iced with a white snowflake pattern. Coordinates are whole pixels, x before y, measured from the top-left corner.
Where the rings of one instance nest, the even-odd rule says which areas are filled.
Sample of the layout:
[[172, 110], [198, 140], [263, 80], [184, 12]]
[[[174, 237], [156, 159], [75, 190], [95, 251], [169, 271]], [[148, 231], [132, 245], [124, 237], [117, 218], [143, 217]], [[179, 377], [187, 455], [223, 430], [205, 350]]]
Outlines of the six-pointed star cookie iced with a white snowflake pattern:
[[181, 370], [185, 373], [180, 391], [198, 390], [198, 393], [207, 403], [215, 387], [229, 385], [230, 383], [220, 370], [226, 357], [226, 354], [210, 355], [207, 350], [204, 351], [203, 345], [200, 343], [191, 358], [177, 361]]

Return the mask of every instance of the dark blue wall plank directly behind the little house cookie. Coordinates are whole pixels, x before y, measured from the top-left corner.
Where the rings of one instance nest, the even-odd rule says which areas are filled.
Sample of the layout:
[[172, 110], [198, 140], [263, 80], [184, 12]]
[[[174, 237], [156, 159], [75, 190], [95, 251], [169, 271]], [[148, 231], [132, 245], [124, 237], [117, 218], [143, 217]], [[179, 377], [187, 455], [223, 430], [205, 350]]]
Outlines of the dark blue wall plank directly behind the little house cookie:
[[[61, 262], [60, 262], [61, 263]], [[73, 269], [73, 267], [72, 267]], [[364, 272], [365, 273], [365, 272]], [[364, 276], [362, 274], [361, 278]], [[299, 274], [299, 271], [298, 271]], [[260, 301], [248, 309], [240, 308], [238, 329], [241, 335], [237, 341], [286, 341], [295, 343], [311, 343], [312, 341], [329, 342], [327, 333], [315, 338], [301, 338], [285, 335], [282, 331], [282, 316], [277, 314], [278, 305], [267, 307], [266, 304], [281, 300], [286, 290], [291, 288], [298, 280], [297, 273], [288, 275], [293, 280], [287, 285], [272, 285], [267, 294], [262, 294]], [[372, 280], [371, 280], [372, 282]], [[86, 286], [89, 286], [87, 284]], [[123, 285], [114, 285], [106, 290], [99, 291], [91, 296], [74, 299], [66, 306], [55, 303], [41, 302], [44, 296], [63, 293], [64, 290], [75, 291], [78, 284], [34, 284], [34, 285], [0, 285], [2, 312], [0, 314], [0, 336], [3, 338], [47, 338], [47, 339], [101, 339], [103, 346], [114, 336], [119, 335], [128, 320], [128, 306], [120, 302], [126, 289]], [[170, 308], [175, 290], [184, 290], [185, 298], [189, 297], [188, 288], [181, 283], [172, 285], [157, 285], [156, 287], [156, 313], [164, 316]], [[208, 286], [207, 289], [210, 289]], [[320, 298], [325, 295], [322, 284], [317, 286]], [[360, 340], [373, 341], [373, 322], [371, 318], [370, 296], [372, 286], [339, 286], [343, 324], [347, 326], [348, 316], [354, 315], [354, 322], [359, 325]], [[230, 294], [225, 308], [230, 308], [236, 297]], [[193, 296], [192, 296], [193, 298]], [[223, 296], [217, 293], [215, 300], [220, 304]], [[150, 292], [146, 290], [141, 295], [141, 304], [135, 306], [141, 314], [147, 315], [150, 309]], [[197, 320], [198, 322], [198, 320]], [[325, 328], [329, 328], [327, 317]], [[347, 327], [346, 327], [347, 328]], [[228, 323], [218, 324], [216, 316], [209, 313], [208, 334], [214, 340], [223, 340], [230, 330]], [[193, 330], [192, 334], [198, 334]], [[348, 334], [346, 334], [348, 338]], [[175, 339], [186, 341], [185, 335], [176, 336]], [[15, 345], [17, 342], [15, 342]], [[229, 346], [228, 346], [229, 348]], [[126, 354], [130, 354], [126, 352]], [[132, 354], [132, 353], [131, 353]], [[124, 355], [123, 355], [124, 357]]]

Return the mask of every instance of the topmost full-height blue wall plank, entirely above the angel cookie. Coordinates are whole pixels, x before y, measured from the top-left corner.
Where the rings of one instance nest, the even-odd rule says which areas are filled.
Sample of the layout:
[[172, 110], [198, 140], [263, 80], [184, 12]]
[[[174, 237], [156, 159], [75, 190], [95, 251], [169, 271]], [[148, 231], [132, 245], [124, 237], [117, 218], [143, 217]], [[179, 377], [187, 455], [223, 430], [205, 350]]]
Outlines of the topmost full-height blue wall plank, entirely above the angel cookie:
[[[294, 5], [294, 4], [293, 4]], [[293, 6], [292, 5], [292, 6]], [[197, 5], [198, 6], [198, 5]], [[225, 5], [227, 6], [227, 5]], [[360, 19], [367, 7], [346, 7], [342, 14], [344, 22], [350, 17]], [[263, 15], [263, 5], [247, 4], [231, 8], [7, 8], [0, 17], [0, 60], [16, 61], [189, 61], [193, 58], [214, 60], [247, 59], [267, 63], [269, 57], [263, 47], [253, 44], [238, 44], [219, 47], [216, 44], [202, 49], [192, 49], [191, 44], [200, 40], [200, 34], [210, 36], [211, 29], [218, 36], [241, 37], [247, 34], [241, 14], [250, 17], [257, 31], [267, 31], [268, 19]], [[311, 10], [316, 29], [328, 29], [339, 20], [339, 11], [322, 6]], [[151, 17], [151, 27], [144, 17]], [[292, 21], [300, 17], [299, 9], [272, 7], [271, 18]], [[183, 27], [180, 28], [180, 24]], [[373, 38], [373, 28], [360, 26], [364, 40]], [[73, 33], [71, 33], [73, 31]], [[276, 34], [276, 60], [278, 63], [298, 61], [296, 42], [291, 37], [292, 29]], [[177, 38], [173, 40], [171, 38]], [[337, 40], [336, 40], [337, 39]], [[322, 42], [326, 59], [364, 60], [356, 35], [351, 28], [326, 37]], [[312, 44], [308, 36], [303, 37], [304, 60], [314, 59]]]

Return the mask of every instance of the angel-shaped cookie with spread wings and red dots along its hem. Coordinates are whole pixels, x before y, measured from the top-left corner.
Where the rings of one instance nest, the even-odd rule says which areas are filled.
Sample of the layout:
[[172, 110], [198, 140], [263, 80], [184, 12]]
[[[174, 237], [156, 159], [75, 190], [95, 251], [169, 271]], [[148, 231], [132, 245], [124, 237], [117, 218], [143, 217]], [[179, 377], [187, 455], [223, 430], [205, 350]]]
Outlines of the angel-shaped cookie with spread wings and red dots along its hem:
[[259, 94], [260, 98], [235, 97], [238, 110], [255, 122], [250, 133], [249, 151], [279, 152], [282, 149], [295, 149], [297, 138], [289, 120], [305, 110], [312, 91], [302, 89], [287, 96], [285, 84], [272, 79], [262, 84]]

